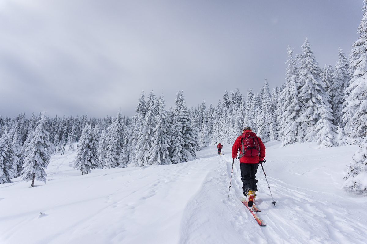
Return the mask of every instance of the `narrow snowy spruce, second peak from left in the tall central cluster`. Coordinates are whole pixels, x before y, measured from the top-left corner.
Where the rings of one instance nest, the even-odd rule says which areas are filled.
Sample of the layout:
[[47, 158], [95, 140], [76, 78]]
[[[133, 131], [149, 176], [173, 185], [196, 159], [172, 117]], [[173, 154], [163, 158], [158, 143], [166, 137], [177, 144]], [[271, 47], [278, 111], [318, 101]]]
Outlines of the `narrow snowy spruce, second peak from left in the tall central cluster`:
[[152, 147], [154, 129], [156, 127], [156, 103], [155, 100], [150, 100], [148, 112], [145, 115], [145, 120], [142, 124], [141, 131], [139, 133], [139, 140], [136, 149], [136, 163], [135, 166], [142, 167], [147, 164], [145, 161], [146, 153]]

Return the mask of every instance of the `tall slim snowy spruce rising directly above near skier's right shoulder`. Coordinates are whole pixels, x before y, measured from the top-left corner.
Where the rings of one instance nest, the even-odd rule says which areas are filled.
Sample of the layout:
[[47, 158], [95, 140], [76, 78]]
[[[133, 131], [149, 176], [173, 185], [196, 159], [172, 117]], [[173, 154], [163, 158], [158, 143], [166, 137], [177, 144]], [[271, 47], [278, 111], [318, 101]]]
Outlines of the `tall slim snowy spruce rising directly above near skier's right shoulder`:
[[270, 106], [270, 90], [268, 81], [265, 80], [264, 93], [262, 95], [261, 115], [259, 117], [258, 135], [263, 142], [270, 140], [270, 118], [273, 117]]

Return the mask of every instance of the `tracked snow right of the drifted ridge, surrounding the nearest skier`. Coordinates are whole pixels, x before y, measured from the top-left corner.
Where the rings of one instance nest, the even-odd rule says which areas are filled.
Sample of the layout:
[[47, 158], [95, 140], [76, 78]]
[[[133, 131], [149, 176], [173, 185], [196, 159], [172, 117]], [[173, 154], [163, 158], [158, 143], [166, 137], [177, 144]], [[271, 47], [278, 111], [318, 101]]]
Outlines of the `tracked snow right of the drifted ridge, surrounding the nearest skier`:
[[227, 198], [232, 169], [227, 145], [219, 158], [224, 164], [208, 174], [188, 204], [180, 243], [367, 243], [367, 199], [341, 189], [356, 146], [320, 150], [315, 143], [265, 145], [268, 162], [263, 165], [277, 204], [271, 203], [261, 167], [255, 201], [267, 226], [259, 226], [239, 200], [243, 193], [238, 160]]

